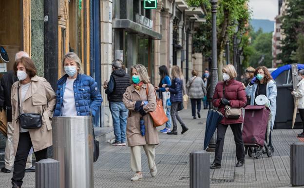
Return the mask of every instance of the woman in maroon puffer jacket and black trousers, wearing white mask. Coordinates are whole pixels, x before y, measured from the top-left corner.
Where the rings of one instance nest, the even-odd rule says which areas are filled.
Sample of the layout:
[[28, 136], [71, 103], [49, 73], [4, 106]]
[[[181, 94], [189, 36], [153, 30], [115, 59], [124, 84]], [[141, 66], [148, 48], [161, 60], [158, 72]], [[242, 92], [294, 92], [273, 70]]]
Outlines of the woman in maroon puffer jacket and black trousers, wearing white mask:
[[211, 169], [221, 168], [224, 140], [228, 125], [230, 125], [233, 132], [236, 146], [235, 153], [238, 162], [235, 167], [242, 167], [245, 164], [245, 153], [242, 137], [242, 123], [244, 122], [243, 115], [241, 114], [239, 119], [226, 118], [225, 106], [228, 105], [234, 108], [244, 107], [247, 102], [246, 93], [242, 83], [234, 80], [237, 77], [237, 73], [232, 64], [224, 66], [222, 72], [224, 82], [219, 82], [216, 85], [212, 98], [212, 104], [214, 107], [218, 107], [218, 110], [224, 115], [224, 118], [217, 125], [215, 156], [213, 163], [210, 165]]

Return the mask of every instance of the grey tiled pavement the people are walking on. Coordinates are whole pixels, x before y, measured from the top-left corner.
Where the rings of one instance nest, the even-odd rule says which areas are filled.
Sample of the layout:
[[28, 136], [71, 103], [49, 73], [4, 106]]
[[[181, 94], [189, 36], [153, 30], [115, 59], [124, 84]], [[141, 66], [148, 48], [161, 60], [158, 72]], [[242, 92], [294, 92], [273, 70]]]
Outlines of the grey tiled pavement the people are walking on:
[[[204, 143], [207, 110], [202, 119], [193, 120], [190, 110], [181, 112], [189, 126], [189, 131], [169, 136], [160, 133], [161, 144], [156, 146], [158, 175], [150, 176], [147, 158], [142, 149], [144, 179], [131, 182], [130, 148], [110, 146], [103, 143], [98, 162], [94, 164], [95, 188], [187, 188], [189, 187], [189, 153], [201, 150]], [[159, 128], [160, 129], [160, 128]], [[235, 145], [230, 128], [227, 131], [222, 168], [210, 170], [211, 188], [279, 188], [290, 186], [290, 144], [298, 142], [296, 134], [301, 130], [275, 130], [273, 143], [275, 152], [272, 158], [264, 154], [262, 159], [253, 160], [246, 156], [246, 165], [235, 168]], [[214, 154], [210, 156], [213, 161]], [[0, 173], [1, 188], [11, 188], [12, 173]], [[26, 173], [22, 188], [35, 187], [35, 173]]]

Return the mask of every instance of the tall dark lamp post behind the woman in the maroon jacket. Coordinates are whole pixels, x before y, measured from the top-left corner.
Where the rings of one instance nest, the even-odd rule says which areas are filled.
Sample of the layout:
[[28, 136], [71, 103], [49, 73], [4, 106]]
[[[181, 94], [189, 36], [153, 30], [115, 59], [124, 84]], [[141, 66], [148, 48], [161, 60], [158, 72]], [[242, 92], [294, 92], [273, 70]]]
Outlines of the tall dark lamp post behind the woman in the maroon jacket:
[[[217, 12], [217, 1], [210, 0], [211, 12], [212, 12], [212, 67], [211, 67], [211, 92], [210, 98], [212, 99], [213, 93], [215, 91], [216, 84], [218, 83], [217, 75], [217, 36], [216, 36], [216, 12]], [[212, 104], [212, 103], [211, 103]], [[216, 143], [216, 132], [214, 132], [207, 151], [215, 152]]]

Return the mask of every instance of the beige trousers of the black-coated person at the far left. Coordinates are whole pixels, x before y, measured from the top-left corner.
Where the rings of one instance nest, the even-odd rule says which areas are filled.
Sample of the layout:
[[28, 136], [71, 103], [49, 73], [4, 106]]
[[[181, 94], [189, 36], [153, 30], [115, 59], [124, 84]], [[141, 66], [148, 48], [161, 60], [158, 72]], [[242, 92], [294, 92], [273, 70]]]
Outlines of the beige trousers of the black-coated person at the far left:
[[[4, 167], [11, 170], [14, 166], [15, 155], [14, 155], [14, 144], [13, 144], [14, 128], [12, 122], [7, 122], [7, 140], [4, 154]], [[32, 165], [32, 154], [27, 157], [25, 169], [31, 168]]]

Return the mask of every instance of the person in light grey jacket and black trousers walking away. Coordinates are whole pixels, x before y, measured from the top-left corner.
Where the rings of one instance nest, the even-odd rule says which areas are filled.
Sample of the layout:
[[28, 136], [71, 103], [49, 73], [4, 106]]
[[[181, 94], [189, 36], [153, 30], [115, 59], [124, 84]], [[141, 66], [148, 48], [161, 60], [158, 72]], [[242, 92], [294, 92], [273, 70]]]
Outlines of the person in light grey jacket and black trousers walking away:
[[201, 77], [198, 77], [198, 72], [192, 70], [192, 77], [188, 80], [186, 87], [188, 88], [188, 96], [191, 101], [192, 116], [196, 119], [195, 107], [197, 107], [197, 117], [201, 118], [201, 101], [207, 97], [206, 86]]

